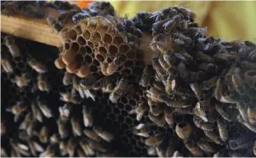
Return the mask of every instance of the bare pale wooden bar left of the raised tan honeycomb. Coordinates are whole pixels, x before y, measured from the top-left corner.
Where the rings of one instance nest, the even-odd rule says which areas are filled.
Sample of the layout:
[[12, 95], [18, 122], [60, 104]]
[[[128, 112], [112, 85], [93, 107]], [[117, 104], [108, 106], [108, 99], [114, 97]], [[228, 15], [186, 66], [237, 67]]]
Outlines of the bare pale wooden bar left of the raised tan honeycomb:
[[[54, 9], [46, 8], [45, 17], [49, 15], [57, 17], [58, 12]], [[15, 37], [43, 42], [56, 47], [61, 46], [58, 33], [47, 25], [46, 18], [34, 19], [20, 14], [12, 16], [1, 14], [1, 31]]]

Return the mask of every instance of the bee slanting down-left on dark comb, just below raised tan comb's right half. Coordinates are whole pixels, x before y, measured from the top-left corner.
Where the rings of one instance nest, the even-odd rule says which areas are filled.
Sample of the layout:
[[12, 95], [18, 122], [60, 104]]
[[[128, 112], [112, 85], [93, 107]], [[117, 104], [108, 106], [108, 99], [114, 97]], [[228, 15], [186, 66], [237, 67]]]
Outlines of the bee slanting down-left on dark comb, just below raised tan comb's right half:
[[122, 97], [123, 93], [128, 91], [128, 80], [126, 77], [122, 77], [121, 80], [117, 83], [114, 91], [110, 94], [109, 99], [112, 103], [117, 103], [117, 99]]

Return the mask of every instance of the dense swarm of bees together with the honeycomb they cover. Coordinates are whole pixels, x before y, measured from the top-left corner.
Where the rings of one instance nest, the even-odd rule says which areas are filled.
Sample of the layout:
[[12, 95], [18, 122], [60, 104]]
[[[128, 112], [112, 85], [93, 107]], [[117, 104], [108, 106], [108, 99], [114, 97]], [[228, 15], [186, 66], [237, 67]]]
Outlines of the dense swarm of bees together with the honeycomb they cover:
[[[129, 20], [107, 2], [31, 5], [59, 10], [47, 21], [63, 47], [40, 46], [56, 53], [45, 59], [31, 53], [38, 43], [1, 38], [4, 95], [14, 93], [3, 156], [255, 156], [256, 43], [207, 37], [181, 6]], [[143, 53], [157, 55], [145, 65]]]

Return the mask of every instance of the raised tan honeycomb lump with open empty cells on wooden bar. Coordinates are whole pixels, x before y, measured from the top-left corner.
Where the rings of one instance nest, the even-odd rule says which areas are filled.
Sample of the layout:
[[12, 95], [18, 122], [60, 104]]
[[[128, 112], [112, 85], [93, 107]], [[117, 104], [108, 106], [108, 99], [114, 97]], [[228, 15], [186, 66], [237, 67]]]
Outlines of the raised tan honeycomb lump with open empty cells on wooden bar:
[[[110, 76], [115, 72], [130, 75], [136, 50], [105, 17], [91, 17], [60, 31], [63, 52], [56, 60], [70, 73], [85, 77], [90, 74]], [[125, 69], [127, 68], [127, 69]]]

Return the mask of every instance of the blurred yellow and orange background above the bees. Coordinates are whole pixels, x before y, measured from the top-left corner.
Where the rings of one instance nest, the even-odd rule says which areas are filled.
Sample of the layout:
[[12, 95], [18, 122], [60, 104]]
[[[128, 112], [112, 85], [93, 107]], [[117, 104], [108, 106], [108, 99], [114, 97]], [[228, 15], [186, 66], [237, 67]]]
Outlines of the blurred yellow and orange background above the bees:
[[[74, 2], [83, 8], [92, 1]], [[256, 42], [256, 1], [111, 1], [111, 4], [119, 16], [128, 18], [140, 11], [154, 12], [180, 5], [196, 13], [196, 22], [208, 26], [209, 36]]]

